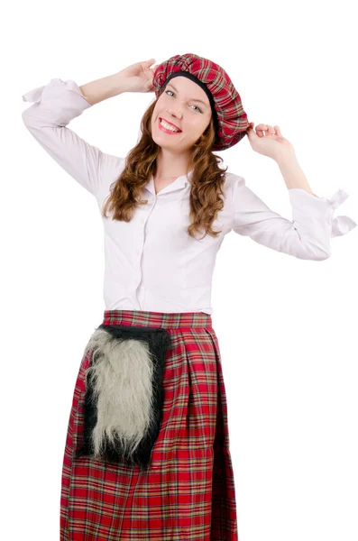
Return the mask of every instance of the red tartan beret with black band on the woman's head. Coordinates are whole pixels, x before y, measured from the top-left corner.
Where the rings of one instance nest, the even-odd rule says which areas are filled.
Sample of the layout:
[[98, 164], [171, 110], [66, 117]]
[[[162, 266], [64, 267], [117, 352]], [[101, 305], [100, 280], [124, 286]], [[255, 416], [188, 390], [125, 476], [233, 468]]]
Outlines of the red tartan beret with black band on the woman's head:
[[249, 122], [241, 97], [225, 69], [197, 54], [177, 54], [155, 69], [152, 80], [155, 95], [158, 97], [161, 87], [179, 76], [188, 77], [207, 94], [216, 127], [213, 151], [224, 151], [243, 139]]

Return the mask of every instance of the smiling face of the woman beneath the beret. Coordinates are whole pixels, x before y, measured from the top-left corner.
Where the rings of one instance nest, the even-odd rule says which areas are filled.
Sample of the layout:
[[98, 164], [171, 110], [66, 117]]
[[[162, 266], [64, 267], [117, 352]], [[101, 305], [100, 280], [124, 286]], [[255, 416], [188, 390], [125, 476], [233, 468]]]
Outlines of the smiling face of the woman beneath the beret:
[[[162, 149], [175, 153], [189, 151], [205, 132], [212, 116], [207, 94], [197, 83], [186, 77], [176, 77], [164, 88], [151, 115], [151, 136]], [[179, 133], [161, 125], [164, 119], [168, 124], [179, 128]], [[173, 126], [172, 126], [173, 127]]]

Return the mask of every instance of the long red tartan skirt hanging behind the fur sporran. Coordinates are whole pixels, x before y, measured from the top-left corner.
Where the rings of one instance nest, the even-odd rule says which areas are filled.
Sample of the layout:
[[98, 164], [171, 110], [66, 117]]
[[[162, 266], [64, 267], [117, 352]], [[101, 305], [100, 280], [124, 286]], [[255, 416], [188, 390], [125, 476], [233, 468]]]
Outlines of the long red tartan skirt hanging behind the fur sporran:
[[[163, 370], [156, 372], [161, 391], [155, 395], [156, 408], [161, 408], [161, 417], [156, 420], [157, 432], [146, 440], [147, 451], [151, 442], [150, 463], [143, 468], [118, 458], [78, 453], [85, 448], [87, 373], [95, 352], [87, 348], [69, 414], [60, 540], [237, 541], [225, 384], [211, 316], [204, 312], [105, 310], [102, 329], [132, 330], [129, 326], [164, 329], [170, 338]], [[110, 342], [112, 338], [106, 336], [110, 345], [117, 340], [117, 349], [111, 351], [119, 352], [124, 342], [116, 338]], [[148, 351], [144, 346], [141, 343], [141, 351]], [[133, 370], [138, 371], [139, 366]], [[130, 372], [131, 367], [126, 370]], [[128, 399], [125, 407], [132, 405]]]

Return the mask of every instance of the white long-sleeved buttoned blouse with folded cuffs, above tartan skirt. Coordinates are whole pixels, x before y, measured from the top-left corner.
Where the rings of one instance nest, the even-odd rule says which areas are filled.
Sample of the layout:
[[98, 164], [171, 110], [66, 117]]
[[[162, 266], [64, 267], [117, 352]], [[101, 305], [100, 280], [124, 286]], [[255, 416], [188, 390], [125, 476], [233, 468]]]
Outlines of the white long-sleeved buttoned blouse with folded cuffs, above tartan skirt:
[[[105, 154], [66, 127], [92, 106], [78, 85], [53, 78], [24, 94], [23, 101], [34, 102], [23, 111], [32, 136], [96, 197], [101, 210], [111, 184], [124, 170], [125, 158]], [[291, 222], [266, 206], [243, 177], [227, 171], [225, 206], [213, 224], [222, 233], [197, 240], [187, 233], [191, 175], [192, 171], [188, 178], [182, 175], [158, 194], [151, 176], [143, 188], [148, 203], [136, 208], [128, 223], [102, 216], [106, 309], [212, 314], [212, 276], [225, 234], [233, 230], [277, 252], [324, 260], [331, 255], [330, 239], [357, 225], [346, 215], [333, 217], [348, 197], [343, 189], [326, 199], [290, 188]]]

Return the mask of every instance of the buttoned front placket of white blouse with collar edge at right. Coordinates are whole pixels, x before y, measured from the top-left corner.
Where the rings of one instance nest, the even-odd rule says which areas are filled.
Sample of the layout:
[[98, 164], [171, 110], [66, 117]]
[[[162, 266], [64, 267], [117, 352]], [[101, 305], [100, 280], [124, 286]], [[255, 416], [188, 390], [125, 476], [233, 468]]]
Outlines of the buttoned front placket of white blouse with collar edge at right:
[[[190, 171], [190, 173], [191, 173], [191, 171]], [[142, 225], [142, 248], [138, 249], [138, 251], [136, 252], [137, 257], [139, 258], [138, 269], [139, 269], [139, 272], [140, 272], [140, 277], [139, 277], [139, 281], [138, 281], [138, 283], [137, 283], [137, 285], [136, 285], [136, 287], [134, 289], [134, 297], [135, 297], [136, 301], [139, 304], [139, 307], [140, 307], [139, 309], [140, 310], [143, 309], [142, 305], [143, 305], [143, 301], [144, 301], [144, 287], [141, 285], [142, 284], [142, 253], [143, 253], [144, 245], [145, 245], [145, 226], [147, 224], [148, 218], [151, 215], [151, 212], [152, 212], [152, 210], [153, 210], [153, 208], [154, 208], [154, 206], [156, 204], [156, 201], [157, 201], [158, 197], [165, 197], [165, 195], [170, 193], [170, 192], [186, 188], [186, 186], [188, 184], [189, 184], [189, 180], [187, 179], [187, 175], [181, 175], [180, 177], [178, 177], [178, 179], [175, 179], [168, 186], [166, 186], [165, 188], [162, 188], [156, 194], [155, 193], [155, 187], [154, 187], [154, 178], [153, 178], [153, 175], [151, 175], [151, 179], [149, 180], [148, 184], [144, 187], [144, 190], [147, 190], [151, 194], [151, 201], [150, 201], [151, 205], [149, 204], [150, 203], [149, 202], [147, 207], [146, 207], [147, 214], [144, 217], [142, 217], [142, 222], [141, 222], [141, 225]]]

